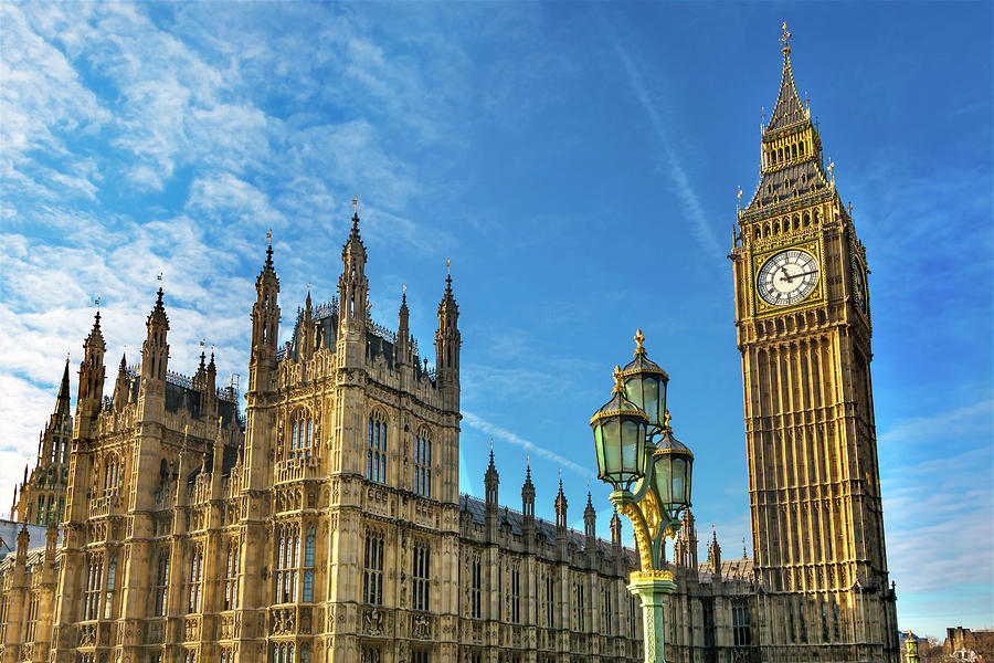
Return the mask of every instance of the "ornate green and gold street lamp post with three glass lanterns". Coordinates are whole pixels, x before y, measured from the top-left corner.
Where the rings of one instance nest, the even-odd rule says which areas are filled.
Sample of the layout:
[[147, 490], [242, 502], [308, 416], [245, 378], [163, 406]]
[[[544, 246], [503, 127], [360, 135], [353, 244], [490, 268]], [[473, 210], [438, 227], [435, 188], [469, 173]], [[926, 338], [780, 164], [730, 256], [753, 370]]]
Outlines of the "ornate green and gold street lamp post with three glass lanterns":
[[642, 600], [645, 663], [665, 663], [664, 602], [676, 585], [663, 568], [663, 545], [680, 527], [690, 506], [694, 454], [673, 436], [666, 388], [669, 376], [649, 360], [639, 329], [635, 359], [614, 368], [611, 400], [590, 419], [598, 478], [611, 484], [609, 499], [635, 529], [639, 570], [628, 591]]

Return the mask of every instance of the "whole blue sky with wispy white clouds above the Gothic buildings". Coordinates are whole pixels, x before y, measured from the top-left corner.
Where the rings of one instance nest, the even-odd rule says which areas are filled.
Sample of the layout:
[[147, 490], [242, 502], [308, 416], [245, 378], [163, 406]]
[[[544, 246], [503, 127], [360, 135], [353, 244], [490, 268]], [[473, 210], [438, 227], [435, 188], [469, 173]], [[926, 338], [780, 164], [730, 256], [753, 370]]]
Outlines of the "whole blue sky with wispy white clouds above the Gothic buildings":
[[[331, 296], [358, 193], [373, 317], [408, 285], [463, 332], [461, 483], [525, 455], [550, 517], [607, 488], [588, 425], [642, 328], [696, 454], [701, 538], [748, 534], [726, 259], [794, 34], [867, 246], [888, 561], [902, 629], [994, 625], [991, 3], [3, 3], [0, 486], [103, 298], [138, 358], [165, 273], [170, 368], [247, 366], [273, 229], [284, 318]], [[287, 327], [284, 326], [284, 333]], [[701, 554], [705, 551], [701, 550]]]

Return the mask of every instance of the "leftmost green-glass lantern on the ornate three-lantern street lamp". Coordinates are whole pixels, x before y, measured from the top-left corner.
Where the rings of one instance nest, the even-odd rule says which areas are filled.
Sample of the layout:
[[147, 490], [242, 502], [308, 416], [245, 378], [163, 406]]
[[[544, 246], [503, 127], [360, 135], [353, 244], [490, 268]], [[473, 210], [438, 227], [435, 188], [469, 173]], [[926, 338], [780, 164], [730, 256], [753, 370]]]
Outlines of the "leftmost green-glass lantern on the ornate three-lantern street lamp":
[[598, 453], [598, 478], [615, 491], [627, 490], [645, 476], [645, 438], [648, 418], [625, 398], [621, 368], [614, 368], [611, 400], [590, 418]]

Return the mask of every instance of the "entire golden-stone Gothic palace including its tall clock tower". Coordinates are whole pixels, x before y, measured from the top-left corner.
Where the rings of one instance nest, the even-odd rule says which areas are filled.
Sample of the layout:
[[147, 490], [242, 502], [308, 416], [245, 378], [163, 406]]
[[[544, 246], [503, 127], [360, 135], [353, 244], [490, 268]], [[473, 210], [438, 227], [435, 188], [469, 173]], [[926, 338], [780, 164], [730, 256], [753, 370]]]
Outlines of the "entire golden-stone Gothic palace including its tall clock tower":
[[[866, 252], [783, 77], [734, 270], [753, 556], [698, 561], [689, 512], [668, 567], [669, 661], [897, 663], [870, 386]], [[641, 661], [637, 558], [595, 534], [458, 493], [459, 326], [447, 278], [435, 365], [402, 298], [368, 316], [359, 218], [337, 296], [282, 347], [272, 246], [256, 281], [245, 411], [214, 358], [170, 370], [161, 288], [140, 364], [105, 388], [99, 313], [75, 412], [66, 362], [0, 562], [0, 663]], [[247, 303], [246, 303], [247, 304]], [[552, 498], [552, 496], [543, 496]], [[517, 505], [515, 505], [517, 506]], [[21, 525], [23, 524], [23, 525]], [[744, 552], [744, 551], [743, 551]]]

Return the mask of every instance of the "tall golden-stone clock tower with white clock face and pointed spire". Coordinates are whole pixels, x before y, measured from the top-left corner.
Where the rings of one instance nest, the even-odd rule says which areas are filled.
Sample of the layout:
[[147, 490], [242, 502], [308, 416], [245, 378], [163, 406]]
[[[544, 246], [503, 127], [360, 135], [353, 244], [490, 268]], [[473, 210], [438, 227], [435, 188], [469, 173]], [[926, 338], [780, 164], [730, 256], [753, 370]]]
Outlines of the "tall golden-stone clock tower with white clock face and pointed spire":
[[761, 181], [730, 256], [762, 659], [896, 662], [866, 250], [797, 96], [783, 28]]

